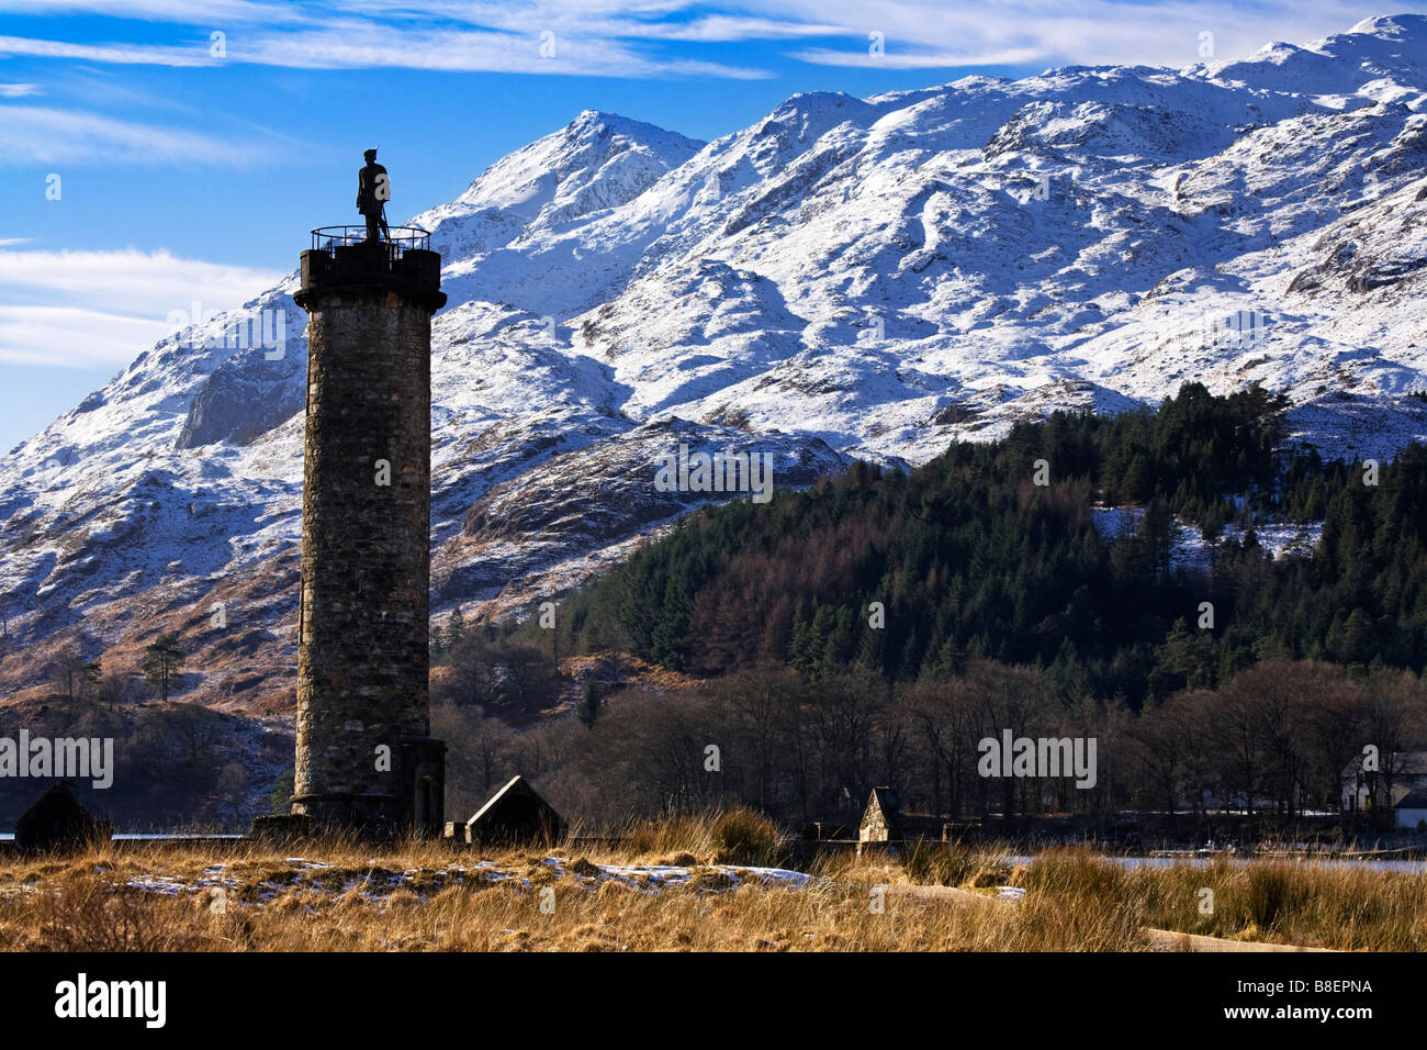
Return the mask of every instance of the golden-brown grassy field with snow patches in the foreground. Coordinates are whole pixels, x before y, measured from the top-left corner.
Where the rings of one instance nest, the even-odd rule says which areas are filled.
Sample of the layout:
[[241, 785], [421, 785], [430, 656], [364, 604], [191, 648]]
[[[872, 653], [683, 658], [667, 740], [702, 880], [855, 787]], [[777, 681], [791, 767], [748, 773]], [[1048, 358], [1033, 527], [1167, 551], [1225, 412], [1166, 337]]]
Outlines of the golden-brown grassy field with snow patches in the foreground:
[[776, 829], [746, 813], [641, 824], [618, 844], [548, 850], [106, 843], [0, 860], [0, 947], [1164, 949], [1150, 927], [1344, 950], [1427, 946], [1427, 879], [1418, 876], [1289, 861], [1126, 871], [1075, 850], [1013, 867], [995, 850], [940, 844], [900, 860], [825, 857], [795, 873], [776, 867], [782, 846]]

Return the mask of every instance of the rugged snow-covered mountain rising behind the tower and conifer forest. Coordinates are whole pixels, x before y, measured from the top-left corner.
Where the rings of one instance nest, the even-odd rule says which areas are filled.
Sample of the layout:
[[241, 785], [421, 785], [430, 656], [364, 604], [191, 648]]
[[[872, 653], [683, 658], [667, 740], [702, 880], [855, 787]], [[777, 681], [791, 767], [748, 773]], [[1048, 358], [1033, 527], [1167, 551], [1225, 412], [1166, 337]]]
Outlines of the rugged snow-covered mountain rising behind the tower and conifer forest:
[[[619, 557], [706, 499], [655, 489], [681, 443], [771, 453], [788, 487], [1197, 379], [1390, 454], [1427, 436], [1424, 161], [1421, 16], [1182, 70], [799, 94], [708, 144], [581, 113], [411, 220], [451, 299], [434, 609], [529, 609]], [[177, 629], [195, 696], [291, 707], [294, 289], [140, 354], [0, 464], [0, 681]], [[264, 311], [281, 356], [203, 346]]]

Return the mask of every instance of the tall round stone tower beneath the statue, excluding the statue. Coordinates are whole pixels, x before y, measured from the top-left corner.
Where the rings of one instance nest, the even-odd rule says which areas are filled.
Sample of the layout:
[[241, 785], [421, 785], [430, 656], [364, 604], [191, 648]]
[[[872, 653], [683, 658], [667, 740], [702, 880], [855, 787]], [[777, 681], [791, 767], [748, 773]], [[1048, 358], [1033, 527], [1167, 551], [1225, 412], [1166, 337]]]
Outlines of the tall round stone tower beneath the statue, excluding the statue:
[[431, 314], [424, 230], [313, 231], [293, 811], [440, 834], [445, 744], [427, 706]]

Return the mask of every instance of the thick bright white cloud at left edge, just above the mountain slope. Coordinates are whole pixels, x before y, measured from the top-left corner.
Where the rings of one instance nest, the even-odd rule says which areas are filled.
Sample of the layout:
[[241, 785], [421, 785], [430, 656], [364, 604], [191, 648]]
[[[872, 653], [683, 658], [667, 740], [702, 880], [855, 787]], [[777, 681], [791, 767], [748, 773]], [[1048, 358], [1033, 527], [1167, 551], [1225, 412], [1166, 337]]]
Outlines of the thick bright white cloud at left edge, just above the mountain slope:
[[0, 361], [123, 364], [173, 331], [170, 313], [230, 310], [281, 277], [167, 251], [0, 251]]

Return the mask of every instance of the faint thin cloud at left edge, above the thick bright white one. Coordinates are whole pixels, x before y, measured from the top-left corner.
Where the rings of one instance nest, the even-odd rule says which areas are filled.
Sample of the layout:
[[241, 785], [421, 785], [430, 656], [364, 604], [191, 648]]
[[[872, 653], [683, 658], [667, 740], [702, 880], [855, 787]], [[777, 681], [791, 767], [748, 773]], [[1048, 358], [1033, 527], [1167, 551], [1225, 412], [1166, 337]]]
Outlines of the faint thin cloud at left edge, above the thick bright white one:
[[107, 160], [114, 163], [201, 163], [241, 167], [267, 156], [261, 143], [233, 143], [195, 131], [46, 106], [0, 106], [0, 166]]

